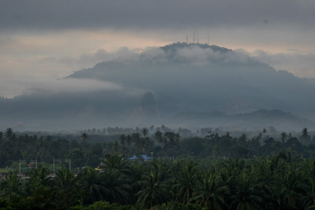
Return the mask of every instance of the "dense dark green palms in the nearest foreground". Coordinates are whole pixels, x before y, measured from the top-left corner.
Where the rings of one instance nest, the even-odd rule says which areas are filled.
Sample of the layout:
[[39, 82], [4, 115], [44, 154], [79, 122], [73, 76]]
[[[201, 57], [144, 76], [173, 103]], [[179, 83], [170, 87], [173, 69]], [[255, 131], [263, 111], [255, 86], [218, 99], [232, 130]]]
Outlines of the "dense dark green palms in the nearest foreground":
[[101, 171], [77, 177], [63, 169], [32, 169], [29, 180], [0, 181], [2, 209], [70, 210], [311, 210], [315, 159], [282, 151], [255, 159], [136, 162], [104, 157]]

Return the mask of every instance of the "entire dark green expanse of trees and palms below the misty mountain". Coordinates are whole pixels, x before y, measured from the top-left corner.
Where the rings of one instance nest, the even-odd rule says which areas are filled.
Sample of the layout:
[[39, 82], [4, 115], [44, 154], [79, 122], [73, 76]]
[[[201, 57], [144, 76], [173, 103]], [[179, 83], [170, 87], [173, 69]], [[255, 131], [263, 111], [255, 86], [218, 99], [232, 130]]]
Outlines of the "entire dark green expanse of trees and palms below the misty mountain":
[[[106, 143], [89, 143], [95, 134], [82, 133], [78, 143], [64, 136], [16, 134], [8, 128], [0, 132], [1, 166], [14, 166], [12, 160], [21, 159], [32, 169], [23, 168], [30, 179], [9, 172], [0, 181], [0, 208], [315, 208], [315, 145], [306, 128], [297, 138], [285, 132], [272, 138], [267, 130], [252, 138], [199, 132], [206, 131], [204, 138], [182, 138], [165, 127], [155, 132], [143, 128], [112, 135], [113, 141]], [[126, 159], [152, 151], [151, 162]], [[32, 162], [36, 158], [37, 169]], [[50, 177], [53, 158], [62, 168]], [[95, 170], [100, 161], [101, 171]], [[89, 167], [77, 170], [84, 165]]]

